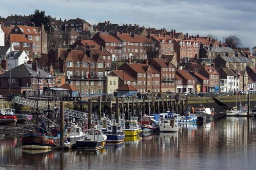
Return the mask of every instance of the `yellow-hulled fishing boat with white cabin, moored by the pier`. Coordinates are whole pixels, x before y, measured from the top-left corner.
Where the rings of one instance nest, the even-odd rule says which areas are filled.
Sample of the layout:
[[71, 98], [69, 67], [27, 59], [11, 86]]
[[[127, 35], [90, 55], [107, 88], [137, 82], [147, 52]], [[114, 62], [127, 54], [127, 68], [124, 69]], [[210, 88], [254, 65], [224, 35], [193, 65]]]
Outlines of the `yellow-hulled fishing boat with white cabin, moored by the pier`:
[[130, 120], [124, 122], [125, 136], [138, 136], [140, 132], [140, 127], [138, 126], [138, 117], [130, 117]]

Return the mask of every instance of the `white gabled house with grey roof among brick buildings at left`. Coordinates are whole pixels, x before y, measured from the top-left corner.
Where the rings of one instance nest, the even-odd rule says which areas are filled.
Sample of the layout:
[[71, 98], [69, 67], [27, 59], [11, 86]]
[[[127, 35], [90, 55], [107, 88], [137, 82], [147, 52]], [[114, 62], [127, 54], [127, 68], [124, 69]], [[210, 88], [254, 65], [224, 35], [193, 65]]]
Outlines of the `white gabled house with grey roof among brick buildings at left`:
[[7, 57], [8, 68], [16, 68], [29, 60], [25, 51], [11, 51]]

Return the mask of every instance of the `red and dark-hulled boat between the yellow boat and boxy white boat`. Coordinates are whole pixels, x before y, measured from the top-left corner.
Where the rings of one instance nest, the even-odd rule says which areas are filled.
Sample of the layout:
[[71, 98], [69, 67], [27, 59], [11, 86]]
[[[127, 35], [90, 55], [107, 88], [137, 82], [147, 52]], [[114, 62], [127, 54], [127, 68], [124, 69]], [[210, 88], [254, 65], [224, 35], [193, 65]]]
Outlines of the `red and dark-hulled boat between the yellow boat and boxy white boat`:
[[144, 132], [156, 132], [158, 126], [156, 123], [155, 116], [144, 115], [139, 121], [141, 131]]

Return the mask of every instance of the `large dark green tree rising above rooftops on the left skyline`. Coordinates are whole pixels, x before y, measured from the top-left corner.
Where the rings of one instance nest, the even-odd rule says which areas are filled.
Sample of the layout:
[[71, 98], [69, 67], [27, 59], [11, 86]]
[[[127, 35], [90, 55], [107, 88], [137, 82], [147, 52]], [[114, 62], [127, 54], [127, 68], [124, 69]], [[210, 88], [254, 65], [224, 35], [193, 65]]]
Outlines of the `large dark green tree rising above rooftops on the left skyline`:
[[44, 25], [44, 30], [49, 31], [50, 29], [50, 16], [45, 16], [45, 11], [35, 10], [34, 14], [29, 18], [32, 22], [35, 23], [36, 27], [41, 27], [41, 24]]

